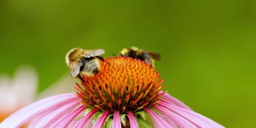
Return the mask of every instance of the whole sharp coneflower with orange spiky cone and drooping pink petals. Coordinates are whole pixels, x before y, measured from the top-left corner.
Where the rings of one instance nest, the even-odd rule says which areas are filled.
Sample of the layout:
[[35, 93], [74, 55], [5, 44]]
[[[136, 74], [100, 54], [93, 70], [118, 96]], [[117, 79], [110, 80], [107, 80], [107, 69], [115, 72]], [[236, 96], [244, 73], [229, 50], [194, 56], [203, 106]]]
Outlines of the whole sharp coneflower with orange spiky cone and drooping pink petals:
[[134, 58], [101, 61], [82, 76], [77, 92], [58, 94], [18, 110], [2, 127], [223, 127], [162, 91], [154, 67]]

